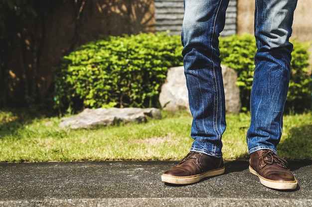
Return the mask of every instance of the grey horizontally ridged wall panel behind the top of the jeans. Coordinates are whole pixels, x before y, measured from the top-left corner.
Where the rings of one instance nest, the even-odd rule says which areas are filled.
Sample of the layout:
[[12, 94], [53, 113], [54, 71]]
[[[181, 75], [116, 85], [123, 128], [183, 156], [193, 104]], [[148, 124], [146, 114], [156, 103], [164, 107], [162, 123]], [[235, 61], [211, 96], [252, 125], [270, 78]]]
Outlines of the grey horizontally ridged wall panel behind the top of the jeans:
[[[183, 16], [183, 0], [155, 0], [156, 32], [170, 30], [172, 34], [180, 35]], [[236, 17], [237, 0], [230, 0], [221, 36], [236, 34]]]

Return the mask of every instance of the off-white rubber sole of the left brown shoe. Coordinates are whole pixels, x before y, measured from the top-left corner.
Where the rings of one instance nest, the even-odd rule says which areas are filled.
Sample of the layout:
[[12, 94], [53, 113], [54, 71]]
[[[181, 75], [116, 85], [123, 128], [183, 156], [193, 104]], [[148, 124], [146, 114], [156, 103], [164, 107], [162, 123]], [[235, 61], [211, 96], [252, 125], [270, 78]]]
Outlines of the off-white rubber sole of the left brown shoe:
[[211, 170], [204, 172], [202, 174], [197, 175], [191, 175], [191, 176], [171, 176], [162, 174], [161, 175], [161, 181], [165, 183], [171, 183], [171, 184], [177, 184], [177, 185], [183, 185], [183, 184], [192, 184], [197, 183], [201, 179], [212, 177], [216, 175], [221, 175], [224, 173], [225, 168], [218, 168], [216, 170]]

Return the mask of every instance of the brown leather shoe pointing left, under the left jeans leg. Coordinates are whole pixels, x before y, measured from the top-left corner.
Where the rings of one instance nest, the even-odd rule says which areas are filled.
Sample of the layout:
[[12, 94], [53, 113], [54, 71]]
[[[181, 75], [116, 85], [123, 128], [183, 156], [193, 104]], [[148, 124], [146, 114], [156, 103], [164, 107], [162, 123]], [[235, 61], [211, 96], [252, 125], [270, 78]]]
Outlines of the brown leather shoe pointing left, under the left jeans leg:
[[161, 175], [161, 181], [171, 184], [192, 184], [203, 178], [224, 173], [223, 160], [200, 152], [189, 152], [175, 167]]

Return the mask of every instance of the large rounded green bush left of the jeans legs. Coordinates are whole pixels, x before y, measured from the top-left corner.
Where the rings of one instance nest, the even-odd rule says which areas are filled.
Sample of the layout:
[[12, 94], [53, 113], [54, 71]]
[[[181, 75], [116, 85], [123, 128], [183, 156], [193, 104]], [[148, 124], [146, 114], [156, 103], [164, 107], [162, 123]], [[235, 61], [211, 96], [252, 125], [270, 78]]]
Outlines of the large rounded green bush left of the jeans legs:
[[[105, 37], [63, 57], [55, 72], [55, 105], [159, 107], [167, 69], [182, 65], [180, 36], [167, 33]], [[78, 107], [79, 108], [79, 107]]]

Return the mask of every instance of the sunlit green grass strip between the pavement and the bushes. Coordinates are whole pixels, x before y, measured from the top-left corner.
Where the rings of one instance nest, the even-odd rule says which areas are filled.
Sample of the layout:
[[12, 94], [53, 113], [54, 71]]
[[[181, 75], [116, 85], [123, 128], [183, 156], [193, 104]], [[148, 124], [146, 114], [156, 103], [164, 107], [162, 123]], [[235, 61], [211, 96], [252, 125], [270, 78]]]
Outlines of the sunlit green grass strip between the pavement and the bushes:
[[[34, 115], [35, 114], [35, 115]], [[161, 120], [96, 129], [60, 128], [57, 117], [34, 112], [0, 111], [0, 162], [80, 160], [179, 160], [192, 143], [191, 116], [163, 112]], [[247, 159], [247, 114], [228, 115], [224, 159]], [[311, 113], [284, 117], [279, 155], [312, 159]]]

